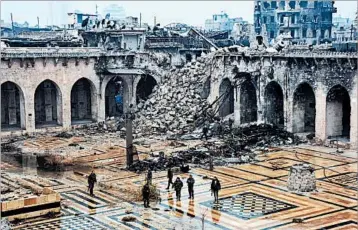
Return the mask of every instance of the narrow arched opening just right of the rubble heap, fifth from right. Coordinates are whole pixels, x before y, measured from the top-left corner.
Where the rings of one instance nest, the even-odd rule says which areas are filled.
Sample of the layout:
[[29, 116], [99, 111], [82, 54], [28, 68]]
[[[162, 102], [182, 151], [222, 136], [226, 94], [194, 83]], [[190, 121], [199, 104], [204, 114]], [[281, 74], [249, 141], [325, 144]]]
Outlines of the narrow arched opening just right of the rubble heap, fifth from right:
[[234, 90], [231, 81], [225, 78], [219, 86], [219, 115], [226, 117], [234, 112]]

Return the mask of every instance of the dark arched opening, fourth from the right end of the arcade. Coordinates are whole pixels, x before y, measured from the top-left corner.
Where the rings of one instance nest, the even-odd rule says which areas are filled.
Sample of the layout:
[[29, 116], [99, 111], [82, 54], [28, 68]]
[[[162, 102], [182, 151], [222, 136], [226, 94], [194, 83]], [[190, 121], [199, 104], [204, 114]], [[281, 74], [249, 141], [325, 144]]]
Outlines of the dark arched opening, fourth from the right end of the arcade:
[[240, 123], [257, 121], [257, 98], [254, 84], [246, 80], [240, 87]]

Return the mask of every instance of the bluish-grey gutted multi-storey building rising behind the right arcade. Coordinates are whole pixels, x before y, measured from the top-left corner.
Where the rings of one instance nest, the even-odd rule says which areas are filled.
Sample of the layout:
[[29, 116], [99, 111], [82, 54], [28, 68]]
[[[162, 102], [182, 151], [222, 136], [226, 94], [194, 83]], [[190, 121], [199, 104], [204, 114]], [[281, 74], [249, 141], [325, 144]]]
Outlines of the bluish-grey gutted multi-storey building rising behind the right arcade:
[[289, 33], [293, 43], [321, 44], [332, 40], [334, 1], [255, 0], [255, 31], [271, 40]]

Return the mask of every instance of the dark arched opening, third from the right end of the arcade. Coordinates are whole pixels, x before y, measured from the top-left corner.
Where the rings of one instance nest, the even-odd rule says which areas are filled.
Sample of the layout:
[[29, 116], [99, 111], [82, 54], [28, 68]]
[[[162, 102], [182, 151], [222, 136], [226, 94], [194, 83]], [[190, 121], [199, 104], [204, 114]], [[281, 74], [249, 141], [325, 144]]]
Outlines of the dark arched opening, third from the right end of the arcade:
[[270, 82], [265, 88], [265, 119], [269, 124], [284, 127], [283, 92], [277, 82]]

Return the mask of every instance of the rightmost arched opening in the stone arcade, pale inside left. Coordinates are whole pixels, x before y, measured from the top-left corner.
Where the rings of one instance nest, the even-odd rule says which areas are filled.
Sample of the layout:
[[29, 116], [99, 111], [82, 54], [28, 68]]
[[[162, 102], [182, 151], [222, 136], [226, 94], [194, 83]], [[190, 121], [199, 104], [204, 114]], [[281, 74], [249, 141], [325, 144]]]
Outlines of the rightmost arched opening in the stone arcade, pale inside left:
[[328, 138], [349, 138], [351, 104], [347, 90], [336, 85], [332, 87], [326, 98], [326, 130]]

